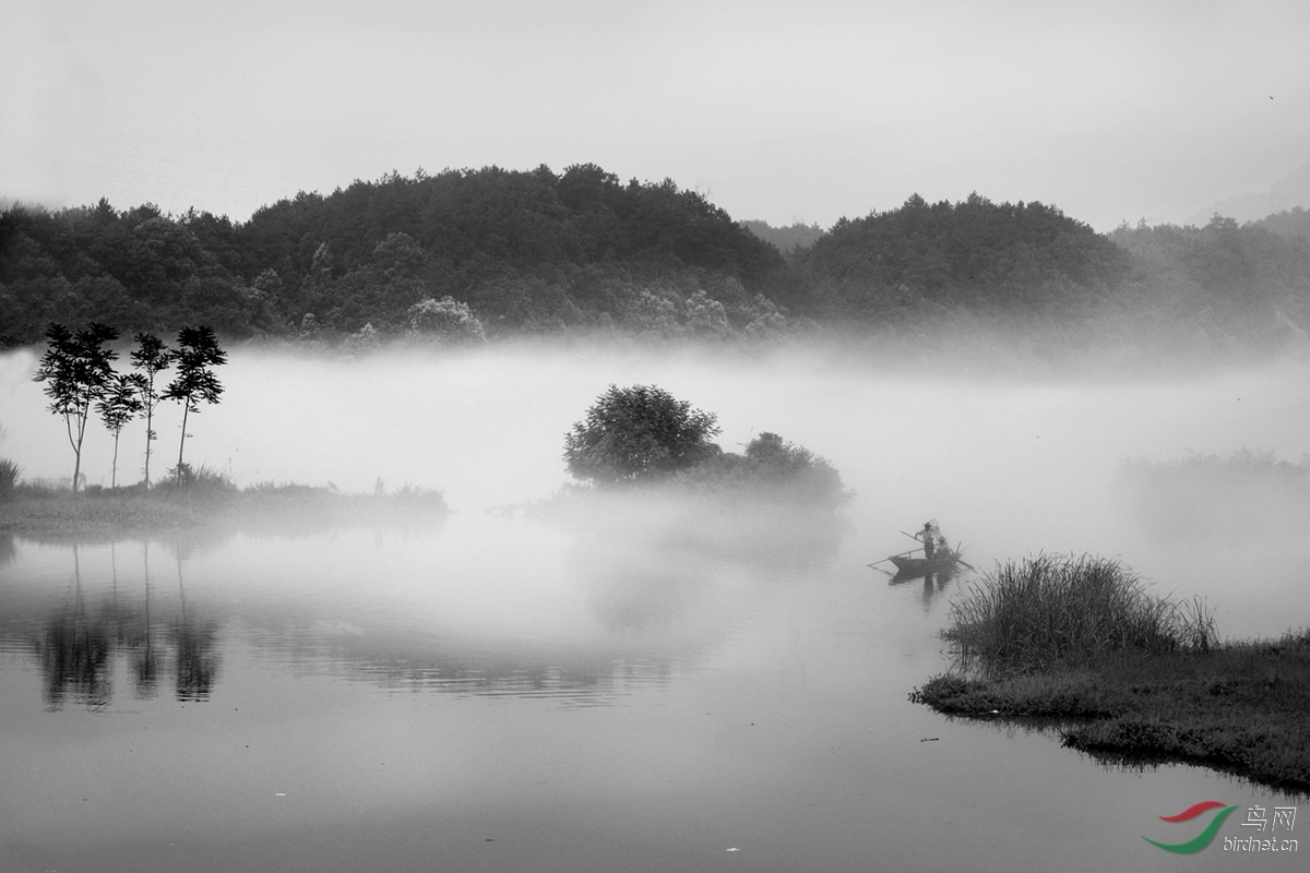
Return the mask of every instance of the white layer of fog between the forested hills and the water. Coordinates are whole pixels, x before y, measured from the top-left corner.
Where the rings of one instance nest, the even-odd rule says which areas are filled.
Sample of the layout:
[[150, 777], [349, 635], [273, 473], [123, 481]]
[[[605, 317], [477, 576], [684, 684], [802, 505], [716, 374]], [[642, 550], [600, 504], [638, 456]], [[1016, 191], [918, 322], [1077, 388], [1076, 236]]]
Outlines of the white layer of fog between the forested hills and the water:
[[[64, 425], [30, 381], [34, 364], [30, 352], [0, 359], [0, 457], [28, 478], [68, 476]], [[563, 435], [609, 383], [656, 383], [715, 412], [726, 450], [772, 431], [831, 459], [858, 495], [842, 560], [901, 551], [912, 544], [901, 531], [938, 518], [984, 569], [1036, 551], [1096, 552], [1123, 556], [1184, 597], [1255, 586], [1264, 592], [1260, 606], [1244, 615], [1238, 598], [1220, 597], [1227, 613], [1220, 630], [1269, 633], [1297, 615], [1305, 623], [1306, 598], [1293, 589], [1305, 547], [1271, 550], [1264, 520], [1197, 531], [1192, 542], [1186, 530], [1165, 535], [1125, 497], [1119, 474], [1125, 459], [1241, 446], [1300, 459], [1310, 453], [1306, 370], [1282, 363], [1098, 381], [1043, 370], [889, 370], [795, 348], [740, 355], [532, 344], [350, 359], [246, 347], [219, 370], [221, 403], [191, 418], [186, 459], [241, 486], [432, 487], [456, 512], [481, 514], [545, 499], [569, 480]], [[176, 462], [179, 420], [174, 404], [164, 407], [156, 478]], [[143, 442], [141, 424], [124, 429], [121, 483], [139, 478]], [[93, 424], [88, 482], [109, 484], [111, 452]], [[1264, 508], [1269, 520], [1296, 516], [1294, 507]]]

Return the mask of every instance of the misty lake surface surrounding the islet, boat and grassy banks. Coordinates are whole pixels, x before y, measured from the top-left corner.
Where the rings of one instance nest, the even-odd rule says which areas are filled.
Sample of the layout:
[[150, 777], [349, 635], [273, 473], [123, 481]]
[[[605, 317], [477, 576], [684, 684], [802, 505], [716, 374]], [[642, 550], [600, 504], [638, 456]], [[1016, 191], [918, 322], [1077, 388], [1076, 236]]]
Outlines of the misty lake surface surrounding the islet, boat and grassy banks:
[[[66, 476], [34, 361], [0, 359], [0, 455]], [[1117, 556], [1204, 597], [1224, 637], [1310, 624], [1310, 538], [1267, 548], [1280, 507], [1162, 535], [1120, 480], [1125, 459], [1188, 452], [1300, 461], [1303, 361], [1096, 380], [800, 351], [238, 348], [219, 374], [193, 462], [242, 486], [435, 487], [453, 512], [0, 534], [5, 872], [1292, 869], [1141, 839], [1176, 836], [1158, 817], [1201, 800], [1286, 796], [910, 703], [950, 664], [938, 632], [971, 576], [867, 564], [937, 518], [980, 571]], [[561, 488], [563, 435], [609, 383], [715, 412], [727, 450], [777, 432], [857, 497], [840, 525], [639, 500], [591, 525], [487, 513]], [[121, 479], [143, 440], [124, 431]], [[111, 450], [88, 436], [90, 483]]]

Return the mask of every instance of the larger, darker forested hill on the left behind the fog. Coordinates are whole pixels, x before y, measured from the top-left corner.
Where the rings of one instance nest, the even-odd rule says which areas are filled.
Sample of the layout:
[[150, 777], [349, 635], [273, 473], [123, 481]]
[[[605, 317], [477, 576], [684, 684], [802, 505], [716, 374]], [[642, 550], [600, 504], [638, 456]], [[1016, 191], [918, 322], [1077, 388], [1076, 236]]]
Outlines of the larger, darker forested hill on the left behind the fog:
[[777, 249], [672, 181], [493, 166], [301, 192], [244, 224], [103, 200], [10, 208], [0, 325], [20, 342], [93, 317], [124, 331], [385, 335], [413, 330], [414, 305], [449, 296], [489, 332], [715, 332], [776, 321], [761, 292], [783, 270]]

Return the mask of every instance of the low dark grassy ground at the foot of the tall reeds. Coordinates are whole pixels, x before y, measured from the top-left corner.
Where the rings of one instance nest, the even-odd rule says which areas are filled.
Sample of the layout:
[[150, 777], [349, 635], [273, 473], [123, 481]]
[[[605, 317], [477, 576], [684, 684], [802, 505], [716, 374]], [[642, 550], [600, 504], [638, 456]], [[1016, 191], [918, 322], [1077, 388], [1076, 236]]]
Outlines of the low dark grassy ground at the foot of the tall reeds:
[[948, 715], [1044, 720], [1107, 763], [1189, 762], [1310, 793], [1310, 630], [1208, 650], [1121, 649], [1038, 673], [945, 674], [910, 699]]

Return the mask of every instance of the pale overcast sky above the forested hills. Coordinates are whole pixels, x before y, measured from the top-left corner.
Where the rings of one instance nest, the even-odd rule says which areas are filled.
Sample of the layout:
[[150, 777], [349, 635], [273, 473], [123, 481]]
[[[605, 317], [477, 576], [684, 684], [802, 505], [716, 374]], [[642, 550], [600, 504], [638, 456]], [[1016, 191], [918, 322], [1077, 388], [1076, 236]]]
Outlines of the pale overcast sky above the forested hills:
[[1310, 1], [0, 0], [0, 196], [246, 220], [595, 162], [736, 219], [1180, 221], [1310, 161]]

